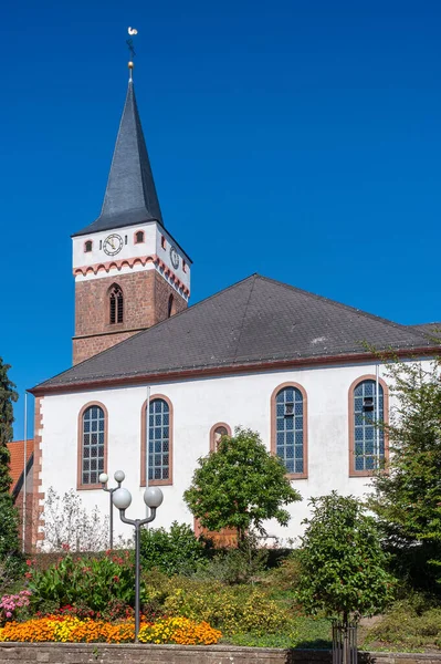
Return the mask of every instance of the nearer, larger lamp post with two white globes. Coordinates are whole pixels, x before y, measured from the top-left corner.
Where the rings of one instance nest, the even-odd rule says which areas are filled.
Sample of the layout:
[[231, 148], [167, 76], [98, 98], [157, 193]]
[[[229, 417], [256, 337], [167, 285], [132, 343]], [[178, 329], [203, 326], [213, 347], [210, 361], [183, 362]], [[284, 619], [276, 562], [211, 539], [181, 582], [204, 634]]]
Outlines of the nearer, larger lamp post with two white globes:
[[119, 487], [112, 494], [112, 500], [119, 510], [119, 518], [123, 523], [135, 526], [135, 643], [138, 643], [139, 632], [139, 544], [140, 527], [150, 523], [156, 518], [156, 510], [164, 499], [162, 491], [158, 487], [149, 487], [144, 491], [144, 502], [150, 509], [150, 515], [145, 519], [127, 519], [126, 509], [130, 506], [132, 494], [128, 489]]

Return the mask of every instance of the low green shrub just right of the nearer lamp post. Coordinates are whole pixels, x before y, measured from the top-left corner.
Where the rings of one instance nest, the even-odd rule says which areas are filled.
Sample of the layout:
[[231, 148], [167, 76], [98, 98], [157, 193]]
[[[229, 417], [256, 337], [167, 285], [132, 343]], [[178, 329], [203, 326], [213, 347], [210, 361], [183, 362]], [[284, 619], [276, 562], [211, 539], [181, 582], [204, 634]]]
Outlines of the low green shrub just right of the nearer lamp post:
[[207, 543], [197, 538], [190, 526], [174, 521], [164, 528], [141, 530], [140, 558], [144, 569], [158, 568], [168, 575], [191, 574], [207, 557]]

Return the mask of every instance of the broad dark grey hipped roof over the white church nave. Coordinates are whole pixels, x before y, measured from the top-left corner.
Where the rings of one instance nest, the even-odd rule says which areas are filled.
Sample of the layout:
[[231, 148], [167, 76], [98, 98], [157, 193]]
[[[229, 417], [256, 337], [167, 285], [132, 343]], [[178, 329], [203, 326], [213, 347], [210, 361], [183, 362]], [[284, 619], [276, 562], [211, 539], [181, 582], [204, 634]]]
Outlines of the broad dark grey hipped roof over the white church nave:
[[[33, 392], [430, 352], [426, 334], [253, 274], [38, 385]], [[437, 346], [438, 347], [438, 346]]]

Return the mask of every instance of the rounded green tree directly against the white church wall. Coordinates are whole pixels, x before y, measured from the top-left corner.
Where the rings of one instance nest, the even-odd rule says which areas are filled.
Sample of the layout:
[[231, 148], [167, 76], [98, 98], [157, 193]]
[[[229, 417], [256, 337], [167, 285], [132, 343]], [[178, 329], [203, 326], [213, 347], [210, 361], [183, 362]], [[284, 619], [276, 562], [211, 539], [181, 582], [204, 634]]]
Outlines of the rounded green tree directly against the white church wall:
[[237, 428], [233, 437], [221, 438], [217, 452], [199, 459], [183, 499], [201, 526], [213, 531], [235, 528], [243, 542], [251, 528], [264, 533], [266, 519], [286, 526], [290, 513], [283, 506], [301, 497], [259, 434]]

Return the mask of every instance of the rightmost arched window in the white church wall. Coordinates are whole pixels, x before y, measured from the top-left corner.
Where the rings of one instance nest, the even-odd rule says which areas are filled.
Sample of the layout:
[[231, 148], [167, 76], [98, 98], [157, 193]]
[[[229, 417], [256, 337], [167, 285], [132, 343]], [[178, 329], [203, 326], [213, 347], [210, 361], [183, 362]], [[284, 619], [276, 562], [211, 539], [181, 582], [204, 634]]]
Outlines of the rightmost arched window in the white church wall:
[[388, 392], [382, 380], [363, 376], [349, 390], [349, 475], [371, 475], [386, 458]]

